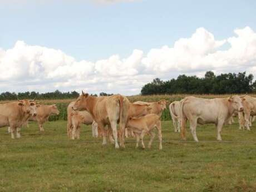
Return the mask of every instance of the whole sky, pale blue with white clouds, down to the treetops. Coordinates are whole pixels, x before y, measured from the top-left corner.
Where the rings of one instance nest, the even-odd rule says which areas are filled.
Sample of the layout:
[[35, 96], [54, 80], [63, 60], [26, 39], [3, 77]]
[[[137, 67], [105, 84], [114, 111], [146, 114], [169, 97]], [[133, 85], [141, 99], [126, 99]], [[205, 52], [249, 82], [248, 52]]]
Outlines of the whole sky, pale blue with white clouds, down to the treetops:
[[256, 80], [256, 1], [0, 0], [0, 92], [137, 95], [158, 77]]

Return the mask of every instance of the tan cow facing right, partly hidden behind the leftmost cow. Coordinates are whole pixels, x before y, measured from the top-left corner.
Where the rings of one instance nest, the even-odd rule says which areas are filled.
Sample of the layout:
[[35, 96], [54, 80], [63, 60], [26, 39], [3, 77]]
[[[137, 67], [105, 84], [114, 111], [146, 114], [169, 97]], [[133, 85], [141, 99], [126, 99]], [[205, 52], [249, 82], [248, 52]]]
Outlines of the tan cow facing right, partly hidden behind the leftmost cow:
[[45, 131], [43, 129], [43, 124], [48, 121], [51, 115], [58, 115], [60, 111], [58, 111], [57, 106], [54, 105], [37, 105], [36, 107], [37, 116], [29, 117], [29, 121], [37, 121], [39, 130]]

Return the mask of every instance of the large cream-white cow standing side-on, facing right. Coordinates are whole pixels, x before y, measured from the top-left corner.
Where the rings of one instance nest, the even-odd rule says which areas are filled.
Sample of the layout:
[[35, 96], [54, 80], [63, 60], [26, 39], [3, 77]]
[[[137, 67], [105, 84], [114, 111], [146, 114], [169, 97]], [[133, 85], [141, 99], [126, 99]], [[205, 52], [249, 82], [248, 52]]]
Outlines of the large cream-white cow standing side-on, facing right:
[[193, 138], [196, 136], [197, 124], [215, 124], [217, 128], [217, 140], [221, 141], [221, 130], [235, 111], [243, 111], [242, 98], [244, 96], [231, 96], [228, 98], [203, 99], [193, 96], [185, 97], [181, 101], [181, 137], [185, 139], [186, 120], [190, 122], [190, 130]]

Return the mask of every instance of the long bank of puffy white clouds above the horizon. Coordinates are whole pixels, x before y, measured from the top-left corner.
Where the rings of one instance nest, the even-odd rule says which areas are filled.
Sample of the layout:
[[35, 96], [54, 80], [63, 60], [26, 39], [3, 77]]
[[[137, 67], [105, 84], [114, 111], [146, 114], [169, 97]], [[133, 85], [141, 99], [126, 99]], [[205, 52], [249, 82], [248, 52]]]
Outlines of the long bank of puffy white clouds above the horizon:
[[[225, 43], [229, 48], [223, 50]], [[234, 30], [234, 36], [216, 40], [205, 28], [173, 46], [132, 51], [127, 58], [112, 55], [96, 62], [77, 61], [61, 50], [31, 46], [17, 41], [13, 48], [0, 48], [1, 91], [109, 92], [134, 95], [145, 83], [180, 74], [203, 76], [205, 71], [247, 71], [256, 76], [256, 33], [250, 28]]]

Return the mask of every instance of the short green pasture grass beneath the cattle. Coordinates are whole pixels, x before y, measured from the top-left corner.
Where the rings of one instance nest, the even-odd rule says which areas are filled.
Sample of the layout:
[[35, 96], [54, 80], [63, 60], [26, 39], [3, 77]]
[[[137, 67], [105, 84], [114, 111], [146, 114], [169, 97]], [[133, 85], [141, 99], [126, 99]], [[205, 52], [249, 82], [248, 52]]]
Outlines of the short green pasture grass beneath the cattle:
[[[199, 143], [187, 129], [187, 141], [163, 121], [163, 150], [115, 149], [92, 138], [82, 126], [80, 140], [68, 140], [66, 121], [35, 122], [12, 140], [0, 128], [0, 191], [256, 191], [256, 127], [224, 126], [223, 142], [214, 125], [198, 126]], [[149, 137], [145, 138], [146, 144]]]

